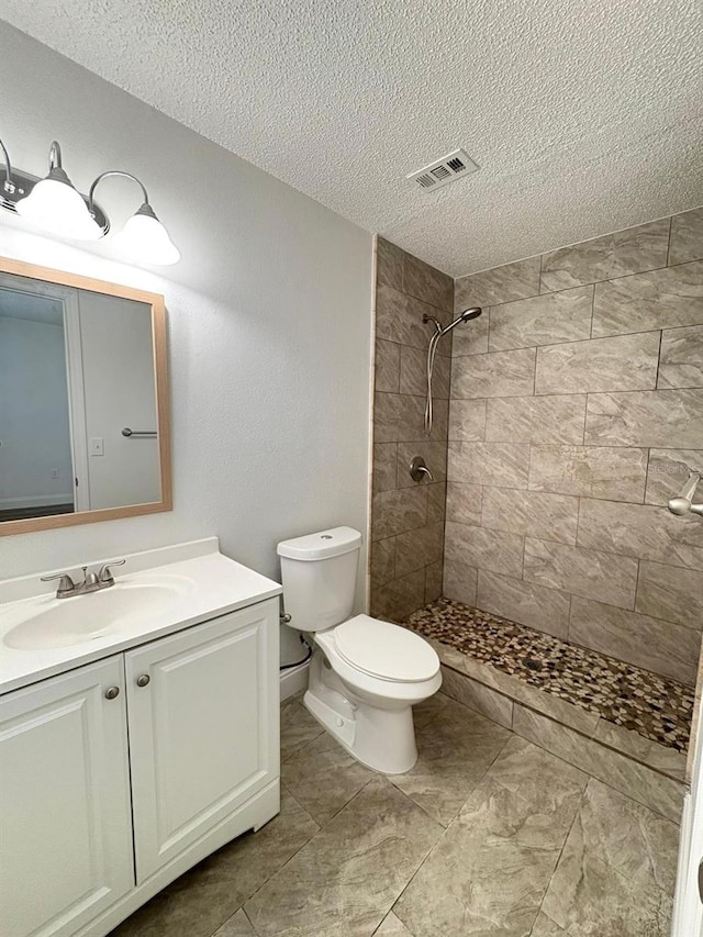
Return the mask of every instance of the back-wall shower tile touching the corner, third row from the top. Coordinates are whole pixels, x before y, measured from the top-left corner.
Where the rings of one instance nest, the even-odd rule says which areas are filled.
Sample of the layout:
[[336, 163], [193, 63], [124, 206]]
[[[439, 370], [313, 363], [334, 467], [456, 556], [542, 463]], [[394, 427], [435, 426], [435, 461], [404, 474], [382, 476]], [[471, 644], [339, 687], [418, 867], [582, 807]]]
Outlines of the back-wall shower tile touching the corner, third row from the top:
[[525, 397], [535, 387], [535, 349], [454, 358], [451, 397]]

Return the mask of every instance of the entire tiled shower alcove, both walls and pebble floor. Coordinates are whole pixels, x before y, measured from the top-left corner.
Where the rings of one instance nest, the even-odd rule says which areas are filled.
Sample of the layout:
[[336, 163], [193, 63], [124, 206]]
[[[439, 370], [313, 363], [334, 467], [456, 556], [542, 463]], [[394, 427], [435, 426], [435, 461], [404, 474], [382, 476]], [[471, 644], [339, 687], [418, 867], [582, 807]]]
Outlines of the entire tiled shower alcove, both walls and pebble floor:
[[[641, 746], [688, 732], [701, 649], [703, 523], [666, 505], [703, 469], [703, 209], [461, 277], [453, 305], [448, 278], [382, 238], [377, 267], [371, 614], [444, 635], [443, 661], [478, 681], [449, 672], [447, 692], [503, 724], [546, 713], [680, 777]], [[422, 315], [472, 305], [440, 345], [427, 440]], [[432, 484], [410, 479], [413, 455]], [[532, 666], [566, 709], [512, 680]], [[621, 676], [602, 693], [589, 670]], [[627, 715], [633, 694], [649, 710]], [[679, 702], [662, 715], [655, 696]]]

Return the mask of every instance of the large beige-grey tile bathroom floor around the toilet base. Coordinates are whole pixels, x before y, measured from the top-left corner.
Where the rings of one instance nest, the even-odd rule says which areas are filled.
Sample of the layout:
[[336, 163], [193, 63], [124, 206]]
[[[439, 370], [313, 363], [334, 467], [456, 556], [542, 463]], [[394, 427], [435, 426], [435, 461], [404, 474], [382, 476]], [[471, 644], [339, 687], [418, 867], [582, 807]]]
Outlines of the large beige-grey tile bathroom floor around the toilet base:
[[281, 813], [112, 937], [665, 937], [678, 827], [438, 693], [384, 778], [299, 700]]

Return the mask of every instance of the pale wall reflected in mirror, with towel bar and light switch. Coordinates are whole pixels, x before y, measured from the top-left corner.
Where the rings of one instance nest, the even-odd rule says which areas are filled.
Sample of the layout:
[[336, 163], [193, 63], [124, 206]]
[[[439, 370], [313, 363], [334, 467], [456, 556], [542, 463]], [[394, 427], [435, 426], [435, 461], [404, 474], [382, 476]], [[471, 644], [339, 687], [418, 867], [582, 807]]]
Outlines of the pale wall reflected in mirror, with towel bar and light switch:
[[[90, 507], [145, 504], [160, 498], [158, 442], [122, 430], [156, 430], [152, 308], [78, 291], [88, 438]], [[90, 439], [102, 439], [96, 455]]]

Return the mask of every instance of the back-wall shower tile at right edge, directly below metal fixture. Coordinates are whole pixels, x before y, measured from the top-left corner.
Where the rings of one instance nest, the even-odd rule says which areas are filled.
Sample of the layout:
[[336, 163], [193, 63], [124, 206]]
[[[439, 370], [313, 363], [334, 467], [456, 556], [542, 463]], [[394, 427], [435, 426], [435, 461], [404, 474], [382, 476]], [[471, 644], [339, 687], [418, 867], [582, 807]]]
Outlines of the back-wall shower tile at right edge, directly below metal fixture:
[[703, 570], [703, 524], [650, 504], [581, 499], [580, 547]]

